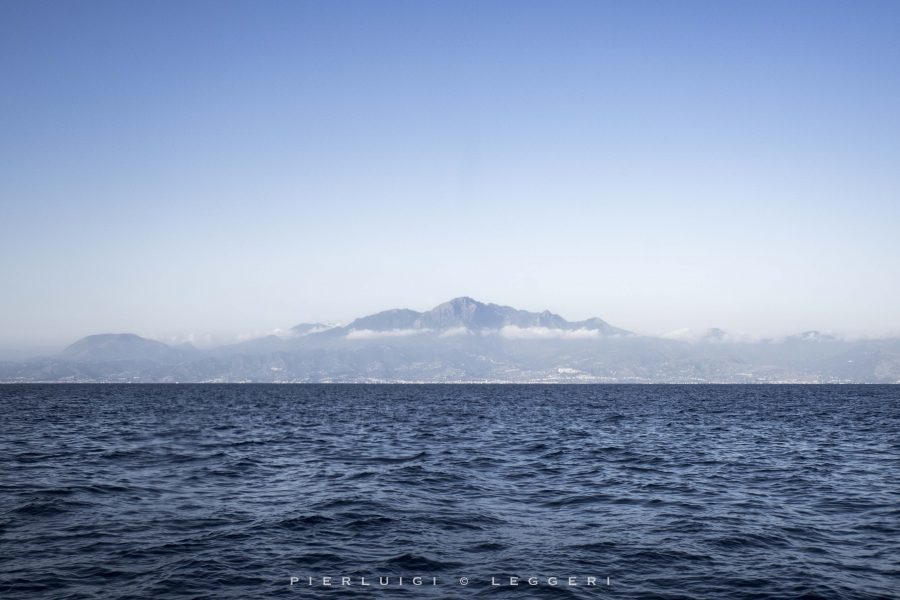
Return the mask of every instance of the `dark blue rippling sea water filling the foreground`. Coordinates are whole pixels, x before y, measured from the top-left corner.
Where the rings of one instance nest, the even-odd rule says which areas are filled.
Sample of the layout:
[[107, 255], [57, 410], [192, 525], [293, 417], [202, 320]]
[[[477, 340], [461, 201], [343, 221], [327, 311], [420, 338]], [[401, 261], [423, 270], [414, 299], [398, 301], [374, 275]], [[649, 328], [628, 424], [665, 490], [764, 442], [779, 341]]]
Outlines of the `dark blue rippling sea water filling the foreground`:
[[0, 474], [4, 599], [900, 597], [900, 387], [7, 385]]

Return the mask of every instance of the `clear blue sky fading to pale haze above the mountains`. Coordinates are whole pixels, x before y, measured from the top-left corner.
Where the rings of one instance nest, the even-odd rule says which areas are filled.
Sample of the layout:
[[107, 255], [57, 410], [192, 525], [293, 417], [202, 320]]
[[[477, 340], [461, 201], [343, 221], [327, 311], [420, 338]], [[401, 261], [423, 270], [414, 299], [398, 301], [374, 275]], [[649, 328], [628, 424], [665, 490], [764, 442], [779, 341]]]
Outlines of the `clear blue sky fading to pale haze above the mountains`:
[[900, 2], [0, 3], [0, 349], [454, 296], [900, 332]]

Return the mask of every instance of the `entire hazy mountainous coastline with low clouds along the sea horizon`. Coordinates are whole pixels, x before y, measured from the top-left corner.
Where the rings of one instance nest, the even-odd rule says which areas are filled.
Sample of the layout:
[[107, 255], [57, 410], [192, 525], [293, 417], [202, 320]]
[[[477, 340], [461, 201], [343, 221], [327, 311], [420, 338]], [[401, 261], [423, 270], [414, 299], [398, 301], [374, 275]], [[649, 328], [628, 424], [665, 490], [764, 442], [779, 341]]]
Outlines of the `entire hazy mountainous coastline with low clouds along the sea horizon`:
[[54, 356], [0, 362], [0, 381], [900, 383], [900, 340], [807, 331], [754, 341], [715, 328], [642, 336], [464, 296], [207, 350], [92, 335]]

